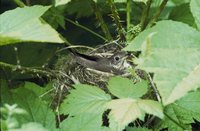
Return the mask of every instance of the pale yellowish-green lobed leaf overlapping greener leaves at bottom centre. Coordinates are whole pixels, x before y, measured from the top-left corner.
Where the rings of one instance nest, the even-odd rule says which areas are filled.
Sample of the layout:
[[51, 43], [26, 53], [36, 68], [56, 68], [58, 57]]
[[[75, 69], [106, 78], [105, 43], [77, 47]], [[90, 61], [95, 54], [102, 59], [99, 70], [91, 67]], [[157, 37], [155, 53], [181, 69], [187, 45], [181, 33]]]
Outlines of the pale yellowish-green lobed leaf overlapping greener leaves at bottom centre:
[[[160, 103], [152, 100], [117, 99], [108, 102], [107, 107], [111, 109], [109, 114], [110, 128], [117, 131], [123, 130], [125, 126], [137, 118], [143, 119], [145, 113], [160, 118], [164, 116]], [[117, 123], [117, 126], [114, 126], [113, 123]]]

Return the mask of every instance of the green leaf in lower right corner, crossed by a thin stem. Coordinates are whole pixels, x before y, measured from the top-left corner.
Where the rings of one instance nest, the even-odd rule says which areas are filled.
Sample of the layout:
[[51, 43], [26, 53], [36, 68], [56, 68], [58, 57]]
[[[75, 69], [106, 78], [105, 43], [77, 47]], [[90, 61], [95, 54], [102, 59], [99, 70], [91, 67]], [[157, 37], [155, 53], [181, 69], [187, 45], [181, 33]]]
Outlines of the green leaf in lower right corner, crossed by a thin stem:
[[191, 92], [176, 103], [168, 105], [165, 108], [165, 113], [171, 118], [166, 117], [161, 122], [160, 129], [168, 128], [169, 130], [182, 131], [183, 129], [171, 119], [182, 125], [183, 128], [191, 129], [189, 124], [195, 123], [194, 119], [200, 121], [200, 91]]

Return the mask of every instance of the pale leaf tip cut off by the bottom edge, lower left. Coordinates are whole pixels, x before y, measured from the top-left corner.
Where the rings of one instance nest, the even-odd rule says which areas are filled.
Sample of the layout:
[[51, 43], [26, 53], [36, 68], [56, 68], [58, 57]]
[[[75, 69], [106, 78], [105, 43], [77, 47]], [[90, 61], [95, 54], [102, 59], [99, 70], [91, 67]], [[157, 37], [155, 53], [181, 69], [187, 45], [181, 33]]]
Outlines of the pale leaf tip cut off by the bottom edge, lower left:
[[10, 129], [9, 131], [49, 131], [44, 128], [40, 123], [30, 122], [23, 124], [19, 129]]

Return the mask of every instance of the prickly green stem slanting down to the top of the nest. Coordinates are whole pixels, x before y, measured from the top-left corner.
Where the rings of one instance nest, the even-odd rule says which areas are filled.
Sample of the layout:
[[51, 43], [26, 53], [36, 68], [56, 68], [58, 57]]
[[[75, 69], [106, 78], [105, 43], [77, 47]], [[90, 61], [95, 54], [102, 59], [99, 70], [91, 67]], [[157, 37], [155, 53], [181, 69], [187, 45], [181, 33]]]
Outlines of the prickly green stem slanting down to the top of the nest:
[[113, 19], [114, 19], [115, 24], [117, 26], [117, 32], [118, 32], [119, 38], [120, 38], [121, 41], [125, 41], [126, 40], [125, 31], [124, 31], [124, 29], [123, 29], [123, 27], [120, 23], [120, 18], [119, 18], [119, 14], [117, 12], [116, 6], [113, 3], [113, 0], [108, 0], [108, 3], [109, 3], [110, 8], [111, 8]]

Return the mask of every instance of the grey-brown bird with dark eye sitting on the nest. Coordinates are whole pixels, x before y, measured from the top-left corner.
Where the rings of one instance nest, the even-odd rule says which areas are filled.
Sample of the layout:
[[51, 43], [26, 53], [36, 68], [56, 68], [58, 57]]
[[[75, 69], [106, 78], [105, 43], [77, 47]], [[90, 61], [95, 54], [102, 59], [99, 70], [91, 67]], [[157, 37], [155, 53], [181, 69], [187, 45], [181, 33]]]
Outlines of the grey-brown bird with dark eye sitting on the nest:
[[130, 66], [126, 61], [128, 53], [125, 51], [116, 52], [109, 57], [102, 57], [81, 54], [72, 49], [69, 50], [76, 63], [92, 70], [122, 75]]

